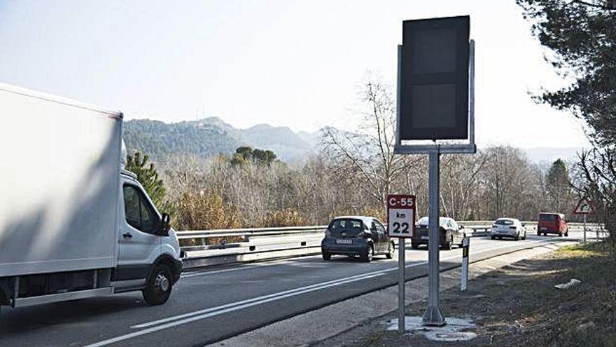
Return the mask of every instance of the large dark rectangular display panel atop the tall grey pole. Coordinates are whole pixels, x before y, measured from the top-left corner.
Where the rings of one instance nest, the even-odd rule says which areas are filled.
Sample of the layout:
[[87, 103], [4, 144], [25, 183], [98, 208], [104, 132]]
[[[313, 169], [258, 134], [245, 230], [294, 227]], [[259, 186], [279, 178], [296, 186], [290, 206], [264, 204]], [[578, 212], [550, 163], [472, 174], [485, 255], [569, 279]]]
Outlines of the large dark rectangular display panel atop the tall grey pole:
[[469, 38], [468, 15], [402, 22], [401, 140], [468, 140]]

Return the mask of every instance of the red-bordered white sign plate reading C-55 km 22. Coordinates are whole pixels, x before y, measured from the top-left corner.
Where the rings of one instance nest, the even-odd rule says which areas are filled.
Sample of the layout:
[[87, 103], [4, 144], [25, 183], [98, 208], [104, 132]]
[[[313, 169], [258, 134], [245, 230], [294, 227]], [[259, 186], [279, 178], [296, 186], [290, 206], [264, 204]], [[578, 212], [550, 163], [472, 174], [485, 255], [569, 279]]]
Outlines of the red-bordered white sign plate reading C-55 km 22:
[[392, 238], [410, 238], [415, 231], [415, 196], [387, 196], [387, 233]]

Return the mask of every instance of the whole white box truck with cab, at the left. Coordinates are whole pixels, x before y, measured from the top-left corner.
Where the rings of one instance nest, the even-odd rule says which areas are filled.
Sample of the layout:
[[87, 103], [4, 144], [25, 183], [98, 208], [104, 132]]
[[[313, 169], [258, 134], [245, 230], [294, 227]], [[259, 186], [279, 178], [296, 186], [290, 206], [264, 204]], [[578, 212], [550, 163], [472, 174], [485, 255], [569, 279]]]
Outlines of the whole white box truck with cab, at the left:
[[180, 278], [169, 215], [124, 170], [123, 115], [0, 83], [0, 307], [140, 290]]

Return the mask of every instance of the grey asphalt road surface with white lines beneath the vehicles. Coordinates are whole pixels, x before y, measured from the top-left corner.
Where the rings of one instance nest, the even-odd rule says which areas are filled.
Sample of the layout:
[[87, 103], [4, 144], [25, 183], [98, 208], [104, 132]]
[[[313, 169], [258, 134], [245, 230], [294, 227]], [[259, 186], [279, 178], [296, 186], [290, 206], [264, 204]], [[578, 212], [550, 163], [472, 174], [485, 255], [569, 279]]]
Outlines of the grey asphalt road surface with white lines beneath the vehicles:
[[[472, 238], [470, 260], [580, 237]], [[407, 280], [426, 275], [427, 248], [406, 252]], [[441, 251], [440, 259], [442, 269], [459, 266], [461, 250]], [[163, 306], [146, 306], [137, 292], [3, 308], [0, 346], [204, 346], [397, 281], [397, 259], [384, 256], [370, 264], [312, 256], [209, 268], [184, 273]]]

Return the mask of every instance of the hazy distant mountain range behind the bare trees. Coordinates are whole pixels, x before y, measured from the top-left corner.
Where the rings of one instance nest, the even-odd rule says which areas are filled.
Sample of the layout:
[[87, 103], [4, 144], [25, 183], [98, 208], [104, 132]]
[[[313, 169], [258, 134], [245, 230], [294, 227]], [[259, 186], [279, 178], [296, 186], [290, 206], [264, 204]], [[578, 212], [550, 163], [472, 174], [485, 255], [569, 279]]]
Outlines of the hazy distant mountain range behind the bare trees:
[[[267, 124], [238, 129], [221, 118], [164, 123], [149, 119], [134, 119], [124, 123], [124, 139], [129, 153], [136, 150], [162, 163], [169, 156], [194, 155], [209, 158], [218, 154], [231, 155], [240, 146], [274, 151], [287, 163], [302, 163], [316, 152], [319, 132], [293, 132], [287, 127]], [[577, 147], [521, 149], [531, 161], [551, 164], [556, 159], [575, 161]]]

